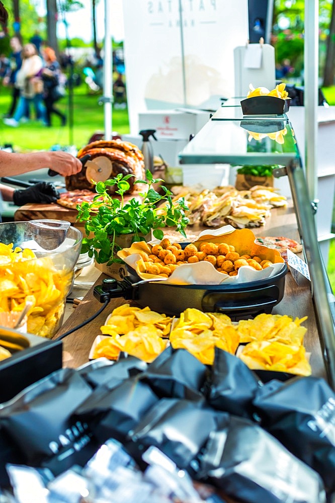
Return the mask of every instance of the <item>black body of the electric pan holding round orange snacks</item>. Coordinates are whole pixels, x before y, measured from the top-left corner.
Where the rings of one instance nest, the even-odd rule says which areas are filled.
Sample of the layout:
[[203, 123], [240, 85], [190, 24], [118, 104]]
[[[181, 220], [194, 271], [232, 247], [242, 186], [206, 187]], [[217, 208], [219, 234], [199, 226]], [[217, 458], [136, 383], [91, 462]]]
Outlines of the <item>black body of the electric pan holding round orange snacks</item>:
[[[203, 312], [221, 312], [232, 319], [271, 313], [283, 296], [287, 265], [271, 278], [243, 284], [173, 285], [160, 281], [138, 281], [134, 275], [117, 281], [103, 280], [96, 288], [99, 297], [108, 290], [111, 297], [134, 300], [139, 305], [167, 315], [178, 316], [189, 307]], [[134, 271], [133, 271], [134, 272]]]

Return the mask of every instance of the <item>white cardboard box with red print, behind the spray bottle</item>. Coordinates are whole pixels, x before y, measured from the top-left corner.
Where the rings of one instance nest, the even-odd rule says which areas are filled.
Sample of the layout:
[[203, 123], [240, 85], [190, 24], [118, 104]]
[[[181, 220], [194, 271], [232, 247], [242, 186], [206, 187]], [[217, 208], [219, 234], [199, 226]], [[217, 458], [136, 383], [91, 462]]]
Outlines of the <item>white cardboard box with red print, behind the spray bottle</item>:
[[150, 110], [138, 114], [139, 131], [155, 129], [157, 139], [188, 141], [190, 135], [197, 134], [209, 118], [207, 110]]

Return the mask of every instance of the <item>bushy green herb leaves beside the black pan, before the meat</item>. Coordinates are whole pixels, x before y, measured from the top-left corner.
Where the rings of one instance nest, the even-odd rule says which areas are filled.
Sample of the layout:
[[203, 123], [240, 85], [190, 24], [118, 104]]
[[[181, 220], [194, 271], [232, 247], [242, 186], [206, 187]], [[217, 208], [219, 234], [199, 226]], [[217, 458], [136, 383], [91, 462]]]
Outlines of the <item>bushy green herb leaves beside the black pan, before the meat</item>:
[[[111, 180], [96, 184], [97, 195], [92, 203], [83, 202], [77, 206], [78, 221], [84, 222], [86, 237], [82, 239], [81, 253], [94, 257], [98, 264], [122, 263], [116, 255], [122, 248], [118, 241], [126, 235], [130, 243], [145, 241], [147, 237], [163, 238], [162, 227], [175, 227], [184, 237], [189, 219], [185, 216], [188, 206], [184, 198], [173, 201], [172, 192], [161, 185], [158, 193], [154, 184], [162, 182], [146, 172], [146, 180], [136, 180], [135, 184], [145, 185], [139, 197], [124, 200], [130, 188], [128, 179], [133, 175], [117, 175]], [[109, 194], [114, 187], [117, 198]], [[164, 204], [163, 204], [164, 203]]]

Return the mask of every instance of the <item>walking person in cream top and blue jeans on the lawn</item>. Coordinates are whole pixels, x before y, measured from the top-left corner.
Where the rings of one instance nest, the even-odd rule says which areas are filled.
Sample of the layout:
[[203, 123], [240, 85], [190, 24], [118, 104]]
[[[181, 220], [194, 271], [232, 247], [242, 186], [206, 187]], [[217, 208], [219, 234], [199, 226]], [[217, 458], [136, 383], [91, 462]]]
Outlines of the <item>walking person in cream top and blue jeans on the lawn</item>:
[[40, 76], [43, 67], [42, 58], [37, 54], [36, 47], [29, 43], [22, 49], [22, 66], [16, 74], [16, 85], [20, 89], [20, 98], [14, 116], [4, 119], [8, 126], [16, 127], [25, 116], [31, 102], [34, 103], [36, 119], [45, 122], [43, 105], [43, 81]]

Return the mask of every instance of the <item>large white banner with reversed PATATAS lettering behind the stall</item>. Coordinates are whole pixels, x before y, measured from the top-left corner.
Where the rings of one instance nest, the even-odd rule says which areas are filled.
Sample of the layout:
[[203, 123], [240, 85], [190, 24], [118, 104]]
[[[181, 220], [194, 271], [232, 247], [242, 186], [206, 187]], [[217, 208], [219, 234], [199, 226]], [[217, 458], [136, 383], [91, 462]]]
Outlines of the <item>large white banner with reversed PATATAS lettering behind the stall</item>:
[[216, 110], [220, 98], [233, 96], [233, 50], [248, 38], [247, 0], [124, 0], [123, 11], [131, 134], [139, 112]]

